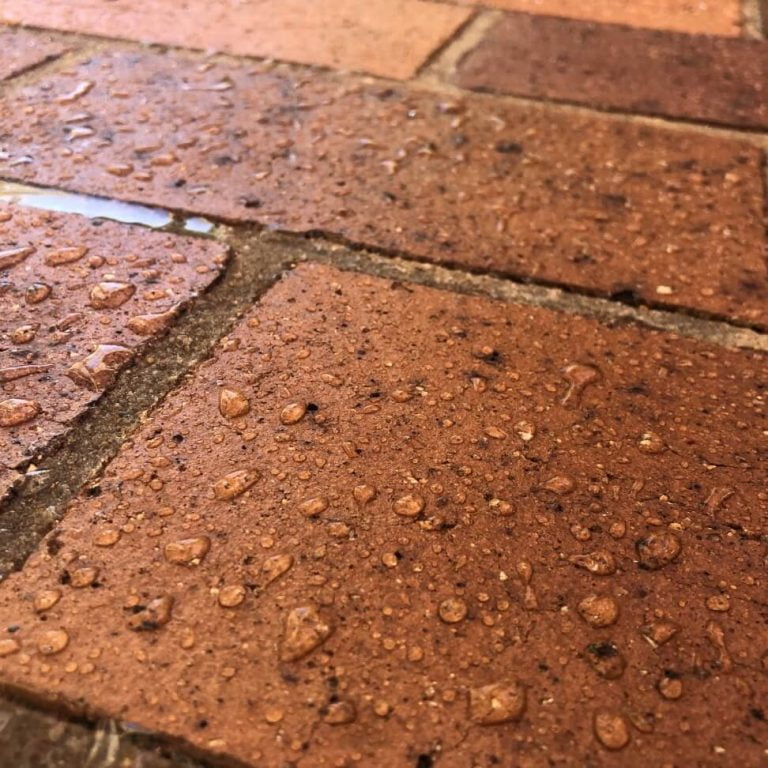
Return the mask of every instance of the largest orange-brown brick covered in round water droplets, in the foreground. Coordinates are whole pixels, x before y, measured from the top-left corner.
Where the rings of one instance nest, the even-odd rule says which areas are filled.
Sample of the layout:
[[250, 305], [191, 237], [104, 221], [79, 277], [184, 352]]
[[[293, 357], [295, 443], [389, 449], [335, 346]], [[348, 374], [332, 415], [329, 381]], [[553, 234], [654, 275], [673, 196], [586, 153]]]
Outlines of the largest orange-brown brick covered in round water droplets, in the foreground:
[[0, 586], [0, 681], [260, 768], [757, 765], [767, 372], [301, 267]]

